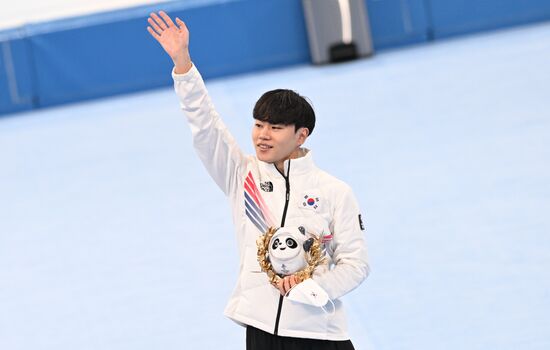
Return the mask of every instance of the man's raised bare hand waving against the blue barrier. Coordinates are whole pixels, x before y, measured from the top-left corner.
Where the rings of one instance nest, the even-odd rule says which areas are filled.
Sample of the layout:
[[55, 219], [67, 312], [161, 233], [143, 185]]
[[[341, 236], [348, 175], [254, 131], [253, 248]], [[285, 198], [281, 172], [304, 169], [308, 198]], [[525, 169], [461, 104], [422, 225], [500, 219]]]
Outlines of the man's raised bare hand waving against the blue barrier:
[[183, 74], [191, 69], [191, 57], [189, 55], [189, 30], [185, 23], [176, 18], [176, 24], [164, 11], [158, 15], [151, 13], [147, 19], [149, 25], [147, 31], [157, 40], [164, 51], [174, 61], [175, 72]]

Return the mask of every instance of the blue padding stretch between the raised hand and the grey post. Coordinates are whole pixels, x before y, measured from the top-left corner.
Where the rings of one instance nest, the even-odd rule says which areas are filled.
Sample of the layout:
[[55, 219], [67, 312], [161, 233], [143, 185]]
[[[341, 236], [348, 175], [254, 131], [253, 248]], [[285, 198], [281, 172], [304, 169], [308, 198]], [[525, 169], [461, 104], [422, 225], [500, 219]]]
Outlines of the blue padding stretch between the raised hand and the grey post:
[[188, 11], [191, 54], [205, 77], [310, 61], [300, 1], [252, 0], [220, 7]]

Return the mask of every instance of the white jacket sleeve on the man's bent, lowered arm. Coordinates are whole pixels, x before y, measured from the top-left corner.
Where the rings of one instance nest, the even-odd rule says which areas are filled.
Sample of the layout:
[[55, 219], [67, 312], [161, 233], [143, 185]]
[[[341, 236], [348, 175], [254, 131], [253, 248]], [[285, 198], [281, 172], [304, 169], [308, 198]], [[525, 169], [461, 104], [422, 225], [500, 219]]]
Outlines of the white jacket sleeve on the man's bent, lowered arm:
[[331, 225], [333, 239], [329, 250], [334, 266], [313, 276], [332, 300], [355, 289], [370, 272], [362, 226], [359, 206], [346, 186], [337, 201]]

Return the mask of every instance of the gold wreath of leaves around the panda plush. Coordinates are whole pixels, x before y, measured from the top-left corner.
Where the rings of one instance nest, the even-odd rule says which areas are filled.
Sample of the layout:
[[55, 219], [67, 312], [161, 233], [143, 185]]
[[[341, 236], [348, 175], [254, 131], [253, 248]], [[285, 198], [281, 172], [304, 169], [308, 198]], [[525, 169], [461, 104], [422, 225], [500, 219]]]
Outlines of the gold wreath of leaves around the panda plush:
[[[275, 285], [282, 278], [273, 270], [273, 266], [271, 266], [268, 256], [269, 242], [271, 241], [271, 237], [273, 237], [276, 231], [276, 228], [270, 227], [263, 235], [258, 237], [258, 239], [256, 240], [256, 245], [258, 246], [258, 262], [260, 263], [260, 268], [269, 277], [269, 282]], [[310, 278], [313, 274], [313, 270], [315, 270], [315, 267], [325, 261], [319, 238], [312, 238], [313, 244], [311, 245], [309, 251], [306, 252], [307, 266], [302, 270], [294, 273], [294, 276], [296, 276], [298, 283]]]

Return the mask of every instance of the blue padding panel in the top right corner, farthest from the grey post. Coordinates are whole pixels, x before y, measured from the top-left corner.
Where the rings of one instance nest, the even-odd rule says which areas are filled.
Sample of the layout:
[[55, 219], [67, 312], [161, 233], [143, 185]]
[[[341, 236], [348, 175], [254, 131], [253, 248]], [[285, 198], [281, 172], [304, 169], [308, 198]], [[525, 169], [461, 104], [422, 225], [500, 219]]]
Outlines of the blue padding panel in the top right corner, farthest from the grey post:
[[435, 38], [550, 19], [549, 0], [429, 0]]

